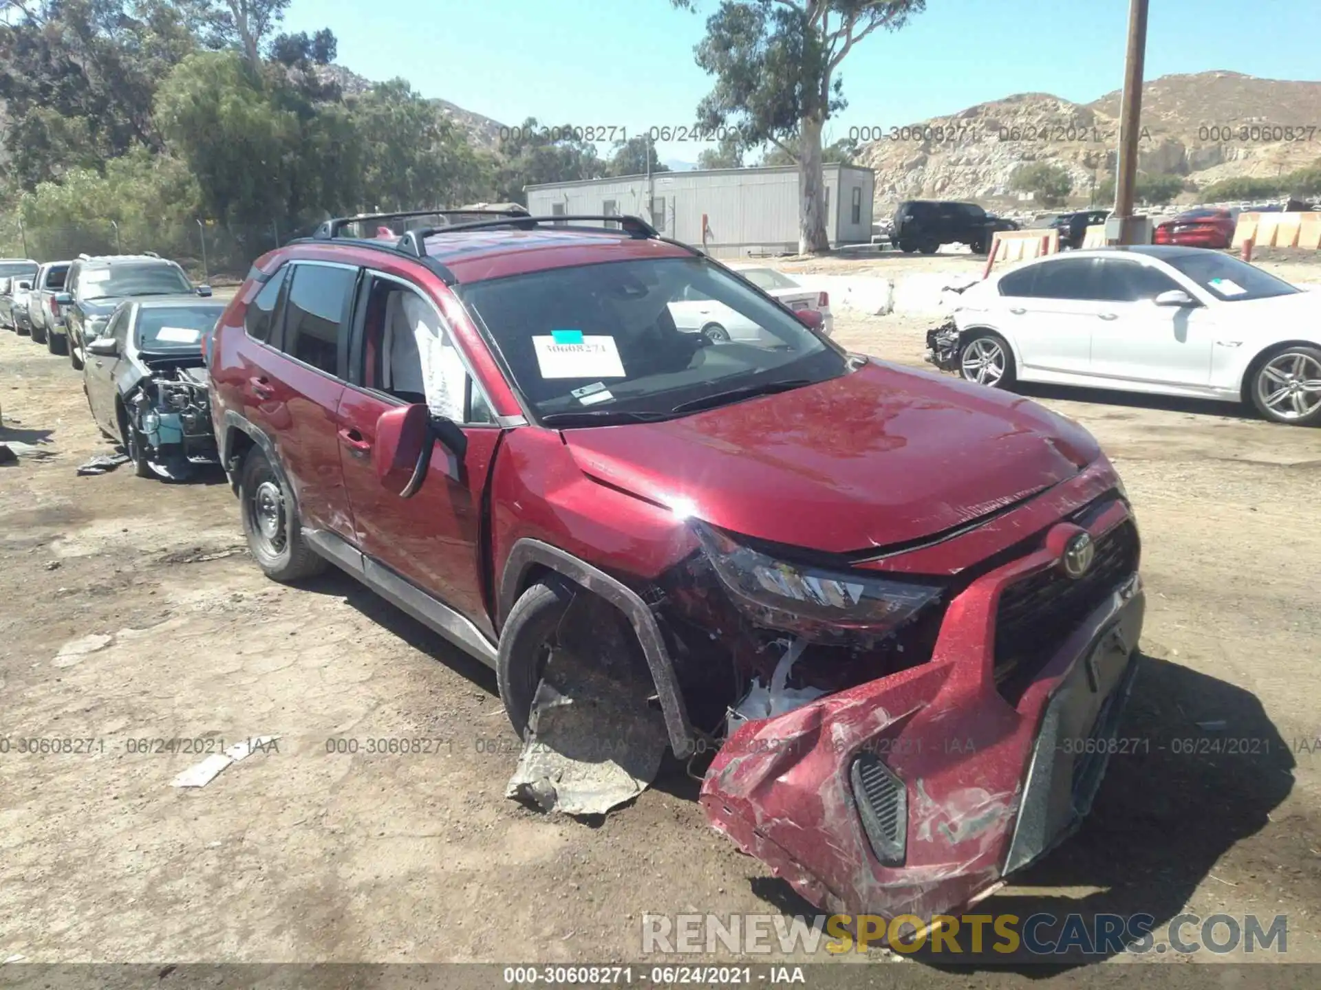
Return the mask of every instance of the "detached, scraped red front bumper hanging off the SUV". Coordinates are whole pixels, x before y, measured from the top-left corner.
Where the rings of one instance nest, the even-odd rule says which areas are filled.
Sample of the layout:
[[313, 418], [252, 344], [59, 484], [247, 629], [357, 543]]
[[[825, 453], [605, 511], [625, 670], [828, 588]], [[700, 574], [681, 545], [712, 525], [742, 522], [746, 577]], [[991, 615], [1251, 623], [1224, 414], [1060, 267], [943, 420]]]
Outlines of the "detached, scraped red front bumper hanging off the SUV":
[[[1036, 620], [1036, 589], [1057, 579], [1062, 541], [1083, 528], [1098, 568], [1107, 541], [1131, 532], [1136, 568], [1123, 502], [1085, 527], [1055, 524], [1040, 549], [950, 602], [929, 663], [742, 725], [701, 788], [711, 824], [824, 911], [923, 923], [1053, 849], [1099, 787], [1144, 612], [1131, 569], [1104, 572], [1098, 603], [1067, 632], [1045, 612]], [[1048, 639], [1007, 677], [1011, 628]]]

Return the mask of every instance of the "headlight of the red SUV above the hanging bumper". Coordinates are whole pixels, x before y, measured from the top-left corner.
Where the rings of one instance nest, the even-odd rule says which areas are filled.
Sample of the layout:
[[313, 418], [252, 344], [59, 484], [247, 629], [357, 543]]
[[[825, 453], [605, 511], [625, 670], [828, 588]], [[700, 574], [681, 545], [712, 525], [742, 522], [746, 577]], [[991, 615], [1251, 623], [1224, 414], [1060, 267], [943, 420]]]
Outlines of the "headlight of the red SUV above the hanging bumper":
[[939, 586], [840, 573], [768, 557], [694, 520], [707, 558], [734, 605], [777, 628], [804, 620], [838, 632], [884, 635], [941, 598]]

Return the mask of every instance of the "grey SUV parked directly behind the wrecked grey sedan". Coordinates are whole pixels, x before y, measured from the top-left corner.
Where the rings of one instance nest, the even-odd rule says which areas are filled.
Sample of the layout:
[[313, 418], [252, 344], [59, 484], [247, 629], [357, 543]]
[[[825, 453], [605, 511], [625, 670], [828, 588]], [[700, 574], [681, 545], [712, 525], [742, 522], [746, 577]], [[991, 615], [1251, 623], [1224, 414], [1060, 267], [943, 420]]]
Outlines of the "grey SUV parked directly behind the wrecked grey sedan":
[[139, 296], [210, 296], [210, 285], [188, 280], [184, 269], [160, 255], [79, 255], [69, 267], [65, 290], [55, 302], [69, 306], [63, 327], [53, 327], [48, 345], [55, 354], [69, 354], [82, 371], [87, 343], [100, 337], [115, 306]]

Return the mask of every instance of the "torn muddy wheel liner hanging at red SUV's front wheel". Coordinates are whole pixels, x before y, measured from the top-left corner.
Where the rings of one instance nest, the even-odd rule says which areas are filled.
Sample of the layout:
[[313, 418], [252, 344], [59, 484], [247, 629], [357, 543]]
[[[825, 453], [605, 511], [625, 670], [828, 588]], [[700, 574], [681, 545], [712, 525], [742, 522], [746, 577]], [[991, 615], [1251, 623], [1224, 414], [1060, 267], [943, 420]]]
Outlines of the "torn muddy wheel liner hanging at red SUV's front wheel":
[[646, 696], [569, 664], [532, 697], [527, 741], [506, 797], [543, 812], [605, 814], [642, 793], [670, 738]]

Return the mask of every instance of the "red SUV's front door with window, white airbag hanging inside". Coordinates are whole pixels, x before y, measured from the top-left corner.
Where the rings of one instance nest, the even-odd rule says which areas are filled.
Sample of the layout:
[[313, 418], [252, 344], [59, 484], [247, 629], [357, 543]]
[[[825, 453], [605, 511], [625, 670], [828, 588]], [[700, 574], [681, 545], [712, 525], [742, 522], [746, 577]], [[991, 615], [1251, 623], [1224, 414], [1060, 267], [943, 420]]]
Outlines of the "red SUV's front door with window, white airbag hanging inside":
[[[437, 308], [402, 279], [369, 279], [357, 308], [350, 387], [337, 417], [353, 543], [494, 638], [482, 599], [480, 529], [501, 430]], [[378, 417], [410, 403], [428, 405], [432, 420], [450, 424], [466, 449], [460, 455], [436, 440], [425, 480], [406, 499], [376, 479], [371, 449]]]

